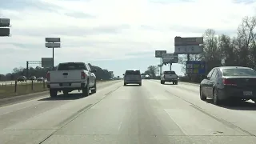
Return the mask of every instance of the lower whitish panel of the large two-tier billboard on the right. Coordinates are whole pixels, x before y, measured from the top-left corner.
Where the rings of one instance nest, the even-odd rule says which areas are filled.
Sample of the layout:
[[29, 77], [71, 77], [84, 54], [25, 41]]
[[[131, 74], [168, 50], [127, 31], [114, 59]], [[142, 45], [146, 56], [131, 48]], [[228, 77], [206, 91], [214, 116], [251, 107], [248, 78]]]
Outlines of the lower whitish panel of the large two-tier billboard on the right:
[[203, 46], [175, 46], [175, 54], [201, 54]]

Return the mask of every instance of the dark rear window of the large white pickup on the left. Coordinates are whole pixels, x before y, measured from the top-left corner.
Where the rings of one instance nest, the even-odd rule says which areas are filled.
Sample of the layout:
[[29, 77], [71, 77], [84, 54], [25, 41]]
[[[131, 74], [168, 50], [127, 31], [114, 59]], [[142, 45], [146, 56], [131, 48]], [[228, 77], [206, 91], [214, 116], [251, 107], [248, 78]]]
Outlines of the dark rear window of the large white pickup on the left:
[[87, 70], [84, 63], [70, 62], [58, 65], [58, 70]]

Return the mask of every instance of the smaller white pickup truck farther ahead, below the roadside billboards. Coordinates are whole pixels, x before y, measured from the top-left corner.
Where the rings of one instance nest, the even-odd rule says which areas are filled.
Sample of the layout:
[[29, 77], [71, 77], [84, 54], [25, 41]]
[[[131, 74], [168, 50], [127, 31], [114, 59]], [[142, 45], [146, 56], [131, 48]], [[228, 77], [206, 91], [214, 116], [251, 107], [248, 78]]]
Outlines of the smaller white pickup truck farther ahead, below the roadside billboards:
[[165, 82], [173, 82], [174, 85], [178, 85], [178, 75], [175, 73], [175, 71], [163, 71], [160, 78], [161, 84], [165, 84]]

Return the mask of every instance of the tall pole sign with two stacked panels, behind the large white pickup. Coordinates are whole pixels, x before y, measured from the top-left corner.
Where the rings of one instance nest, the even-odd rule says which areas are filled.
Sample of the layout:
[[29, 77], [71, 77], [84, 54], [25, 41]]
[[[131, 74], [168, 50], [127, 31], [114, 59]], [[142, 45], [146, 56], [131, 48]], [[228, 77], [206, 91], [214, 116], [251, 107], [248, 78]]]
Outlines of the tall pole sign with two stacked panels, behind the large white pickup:
[[61, 38], [46, 38], [46, 48], [53, 49], [52, 68], [54, 70], [54, 48], [61, 47]]

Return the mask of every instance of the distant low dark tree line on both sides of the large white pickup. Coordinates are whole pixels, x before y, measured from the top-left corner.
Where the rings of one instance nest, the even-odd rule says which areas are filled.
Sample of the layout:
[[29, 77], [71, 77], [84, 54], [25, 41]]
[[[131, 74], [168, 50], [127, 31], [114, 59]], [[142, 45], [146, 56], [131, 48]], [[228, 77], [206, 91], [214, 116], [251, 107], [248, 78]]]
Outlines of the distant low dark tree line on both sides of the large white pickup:
[[[111, 78], [111, 74], [109, 70], [102, 69], [99, 66], [93, 66], [89, 63], [89, 66], [92, 70], [96, 69], [96, 78], [98, 80], [108, 80]], [[30, 67], [28, 70], [29, 77], [35, 76], [35, 77], [43, 77], [46, 78], [46, 74], [51, 69], [49, 68], [42, 68], [42, 67]], [[13, 81], [16, 80], [20, 76], [26, 76], [26, 68], [24, 67], [15, 67], [11, 73], [8, 74], [0, 74], [0, 81]]]

